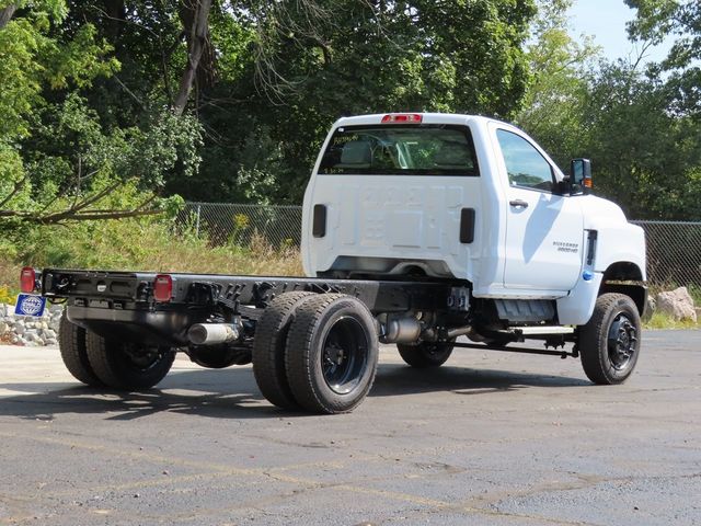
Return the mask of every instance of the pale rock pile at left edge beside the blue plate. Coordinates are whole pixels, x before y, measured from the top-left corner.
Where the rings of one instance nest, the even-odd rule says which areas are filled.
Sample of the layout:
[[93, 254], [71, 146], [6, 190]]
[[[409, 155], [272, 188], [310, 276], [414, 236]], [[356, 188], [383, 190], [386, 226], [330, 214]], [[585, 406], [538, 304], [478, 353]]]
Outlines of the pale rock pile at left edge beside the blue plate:
[[42, 318], [14, 316], [14, 306], [0, 304], [0, 340], [14, 345], [58, 345], [58, 324], [64, 308], [47, 306]]

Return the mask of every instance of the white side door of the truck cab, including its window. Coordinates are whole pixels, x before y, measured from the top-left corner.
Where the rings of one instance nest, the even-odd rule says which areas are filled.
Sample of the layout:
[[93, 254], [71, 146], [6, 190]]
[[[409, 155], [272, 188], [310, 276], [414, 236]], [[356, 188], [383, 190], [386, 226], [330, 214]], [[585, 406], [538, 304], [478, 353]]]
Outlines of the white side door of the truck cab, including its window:
[[582, 201], [553, 193], [553, 165], [526, 137], [495, 134], [508, 178], [504, 286], [570, 290], [582, 271]]

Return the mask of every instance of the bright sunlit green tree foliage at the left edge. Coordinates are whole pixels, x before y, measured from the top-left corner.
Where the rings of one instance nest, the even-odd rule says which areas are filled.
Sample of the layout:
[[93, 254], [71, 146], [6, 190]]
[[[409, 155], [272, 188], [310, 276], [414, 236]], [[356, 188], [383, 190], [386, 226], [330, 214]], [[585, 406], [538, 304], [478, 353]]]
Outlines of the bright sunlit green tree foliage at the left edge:
[[[14, 8], [14, 9], [10, 9]], [[120, 64], [95, 26], [68, 24], [62, 1], [0, 12], [0, 227], [149, 213], [164, 173], [196, 168], [198, 126], [151, 112], [143, 128], [101, 122], [81, 92]], [[138, 180], [143, 199], [105, 209], [103, 199]], [[147, 208], [148, 206], [148, 208]]]

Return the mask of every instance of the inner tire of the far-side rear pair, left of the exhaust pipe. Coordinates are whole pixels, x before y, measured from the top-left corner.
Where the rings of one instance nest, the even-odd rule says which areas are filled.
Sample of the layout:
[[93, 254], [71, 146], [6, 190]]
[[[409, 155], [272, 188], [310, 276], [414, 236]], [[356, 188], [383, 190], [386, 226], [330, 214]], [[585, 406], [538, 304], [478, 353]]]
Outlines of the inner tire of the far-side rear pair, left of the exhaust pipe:
[[161, 381], [175, 359], [171, 347], [145, 347], [88, 332], [88, 359], [95, 375], [113, 389], [136, 391]]

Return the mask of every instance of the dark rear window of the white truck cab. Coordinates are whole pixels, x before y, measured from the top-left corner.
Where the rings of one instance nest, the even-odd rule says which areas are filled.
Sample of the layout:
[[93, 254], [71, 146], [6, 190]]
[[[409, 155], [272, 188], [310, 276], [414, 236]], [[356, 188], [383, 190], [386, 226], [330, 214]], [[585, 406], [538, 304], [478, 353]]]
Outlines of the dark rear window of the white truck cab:
[[467, 126], [345, 126], [333, 134], [322, 175], [479, 175]]

